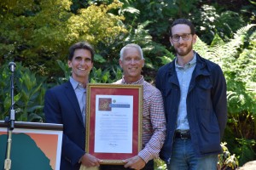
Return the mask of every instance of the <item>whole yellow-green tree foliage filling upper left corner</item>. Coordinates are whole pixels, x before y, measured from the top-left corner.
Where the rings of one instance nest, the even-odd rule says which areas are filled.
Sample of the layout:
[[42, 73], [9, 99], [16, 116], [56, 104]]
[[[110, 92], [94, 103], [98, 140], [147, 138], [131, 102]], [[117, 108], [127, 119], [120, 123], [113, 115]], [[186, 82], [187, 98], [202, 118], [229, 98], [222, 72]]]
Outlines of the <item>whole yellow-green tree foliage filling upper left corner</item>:
[[7, 8], [0, 11], [2, 59], [20, 61], [39, 75], [60, 76], [61, 71], [52, 60], [66, 60], [67, 48], [73, 42], [109, 44], [126, 32], [123, 17], [109, 13], [121, 3], [91, 5], [77, 14], [70, 11], [71, 3], [21, 0], [1, 4]]

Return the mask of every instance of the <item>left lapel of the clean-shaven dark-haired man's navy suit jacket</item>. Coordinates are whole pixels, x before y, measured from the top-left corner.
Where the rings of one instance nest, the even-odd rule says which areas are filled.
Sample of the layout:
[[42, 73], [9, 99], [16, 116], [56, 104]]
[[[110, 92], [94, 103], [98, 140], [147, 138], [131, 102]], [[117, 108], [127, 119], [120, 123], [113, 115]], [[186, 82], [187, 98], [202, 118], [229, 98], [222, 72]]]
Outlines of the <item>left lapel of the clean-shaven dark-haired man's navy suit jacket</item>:
[[78, 101], [77, 96], [76, 96], [76, 94], [73, 90], [71, 82], [68, 81], [66, 83], [65, 88], [67, 89], [67, 90], [65, 90], [65, 94], [67, 95], [67, 99], [69, 100], [69, 102], [73, 106], [73, 109], [76, 112], [77, 116], [79, 116], [80, 122], [82, 122], [84, 124], [82, 113], [81, 113], [81, 110], [80, 110], [80, 107], [79, 107], [79, 101]]

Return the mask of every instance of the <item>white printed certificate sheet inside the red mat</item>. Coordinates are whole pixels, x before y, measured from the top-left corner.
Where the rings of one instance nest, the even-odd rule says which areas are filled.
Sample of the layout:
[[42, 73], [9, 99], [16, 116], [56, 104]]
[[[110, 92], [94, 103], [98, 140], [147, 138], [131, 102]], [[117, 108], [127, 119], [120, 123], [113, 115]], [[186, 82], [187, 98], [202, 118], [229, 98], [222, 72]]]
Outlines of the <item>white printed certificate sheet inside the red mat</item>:
[[96, 94], [96, 153], [132, 153], [133, 96]]

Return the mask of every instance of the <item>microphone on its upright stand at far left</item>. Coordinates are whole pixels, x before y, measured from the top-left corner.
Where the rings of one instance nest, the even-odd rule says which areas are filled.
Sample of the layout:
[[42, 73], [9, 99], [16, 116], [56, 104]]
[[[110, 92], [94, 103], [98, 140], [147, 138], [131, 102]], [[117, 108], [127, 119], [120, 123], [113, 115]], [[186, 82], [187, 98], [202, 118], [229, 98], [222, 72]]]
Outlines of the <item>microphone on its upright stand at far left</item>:
[[8, 140], [7, 140], [7, 153], [6, 153], [6, 159], [4, 161], [4, 169], [9, 170], [11, 167], [11, 159], [10, 159], [10, 151], [11, 151], [11, 143], [12, 143], [12, 132], [15, 128], [15, 100], [14, 100], [14, 78], [15, 78], [15, 63], [10, 62], [9, 63], [10, 70], [12, 72], [10, 77], [10, 94], [11, 94], [11, 107], [9, 112], [9, 117], [6, 119], [7, 122], [9, 122], [9, 130], [8, 130]]

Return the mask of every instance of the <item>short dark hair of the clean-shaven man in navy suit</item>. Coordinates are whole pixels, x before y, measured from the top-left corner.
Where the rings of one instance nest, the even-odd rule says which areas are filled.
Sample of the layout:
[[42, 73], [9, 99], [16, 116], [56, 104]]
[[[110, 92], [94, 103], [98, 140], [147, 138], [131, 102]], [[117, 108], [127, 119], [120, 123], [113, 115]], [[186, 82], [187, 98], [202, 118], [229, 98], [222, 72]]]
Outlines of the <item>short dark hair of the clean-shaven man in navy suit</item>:
[[73, 59], [73, 54], [76, 49], [88, 49], [91, 54], [91, 62], [93, 62], [95, 51], [89, 42], [76, 42], [69, 48], [68, 60]]

